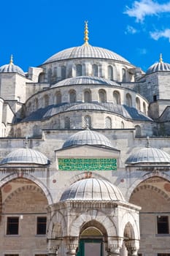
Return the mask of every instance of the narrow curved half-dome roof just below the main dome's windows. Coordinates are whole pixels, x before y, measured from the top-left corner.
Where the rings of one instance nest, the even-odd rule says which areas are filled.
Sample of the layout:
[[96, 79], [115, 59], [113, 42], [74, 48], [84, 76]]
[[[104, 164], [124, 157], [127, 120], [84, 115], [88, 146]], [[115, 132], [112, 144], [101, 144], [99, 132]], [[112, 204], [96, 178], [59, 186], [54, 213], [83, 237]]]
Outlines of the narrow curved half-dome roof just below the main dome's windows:
[[58, 83], [55, 83], [51, 87], [72, 86], [77, 84], [101, 84], [105, 86], [120, 86], [119, 83], [116, 83], [115, 81], [106, 78], [80, 76], [76, 78], [66, 78]]

